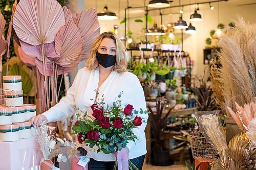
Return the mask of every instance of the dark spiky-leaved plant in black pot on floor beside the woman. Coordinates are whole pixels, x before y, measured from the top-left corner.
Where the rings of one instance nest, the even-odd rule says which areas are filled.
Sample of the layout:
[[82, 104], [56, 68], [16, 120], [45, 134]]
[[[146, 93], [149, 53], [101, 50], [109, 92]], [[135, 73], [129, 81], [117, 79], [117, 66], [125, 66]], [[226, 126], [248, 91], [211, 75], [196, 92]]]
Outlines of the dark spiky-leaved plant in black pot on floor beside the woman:
[[169, 108], [166, 114], [163, 114], [163, 110], [166, 104], [166, 99], [161, 98], [156, 101], [156, 112], [152, 111], [152, 108], [148, 106], [150, 114], [148, 120], [151, 125], [151, 134], [152, 141], [154, 142], [153, 155], [154, 165], [168, 165], [173, 162], [169, 160], [169, 150], [164, 148], [164, 141], [161, 138], [161, 133], [166, 128], [166, 120], [172, 111], [172, 108]]

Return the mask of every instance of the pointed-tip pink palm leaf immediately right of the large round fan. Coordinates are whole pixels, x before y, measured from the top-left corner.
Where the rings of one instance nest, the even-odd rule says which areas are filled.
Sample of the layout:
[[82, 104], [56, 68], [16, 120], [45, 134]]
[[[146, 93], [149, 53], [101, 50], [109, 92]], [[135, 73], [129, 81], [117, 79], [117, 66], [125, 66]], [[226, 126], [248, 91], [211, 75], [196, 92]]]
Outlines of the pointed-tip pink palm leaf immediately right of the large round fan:
[[74, 22], [73, 15], [67, 7], [63, 7], [66, 26], [55, 37], [55, 50], [59, 55], [53, 62], [61, 67], [75, 67], [81, 61], [82, 35]]

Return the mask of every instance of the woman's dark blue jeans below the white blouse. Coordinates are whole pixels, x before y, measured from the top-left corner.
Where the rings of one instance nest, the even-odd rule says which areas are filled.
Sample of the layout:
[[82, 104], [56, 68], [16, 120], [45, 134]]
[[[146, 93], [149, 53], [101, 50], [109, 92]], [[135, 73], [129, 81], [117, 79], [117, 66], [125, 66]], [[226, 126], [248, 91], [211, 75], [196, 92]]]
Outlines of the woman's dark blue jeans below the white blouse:
[[[139, 156], [134, 159], [130, 159], [130, 161], [138, 167], [139, 170], [142, 169], [143, 162], [144, 162], [145, 155]], [[115, 162], [103, 162], [103, 161], [96, 161], [91, 158], [90, 162], [88, 163], [89, 170], [113, 170]]]

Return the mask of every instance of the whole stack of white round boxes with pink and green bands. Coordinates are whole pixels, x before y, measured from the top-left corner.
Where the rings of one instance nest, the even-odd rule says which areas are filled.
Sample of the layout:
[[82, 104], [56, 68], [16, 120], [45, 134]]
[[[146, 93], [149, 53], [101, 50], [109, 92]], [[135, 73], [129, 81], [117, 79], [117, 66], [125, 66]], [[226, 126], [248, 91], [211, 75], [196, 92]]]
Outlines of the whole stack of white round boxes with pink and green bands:
[[23, 104], [22, 76], [4, 76], [3, 88], [5, 104], [0, 107], [0, 141], [31, 137], [34, 128], [30, 119], [36, 115], [36, 107]]

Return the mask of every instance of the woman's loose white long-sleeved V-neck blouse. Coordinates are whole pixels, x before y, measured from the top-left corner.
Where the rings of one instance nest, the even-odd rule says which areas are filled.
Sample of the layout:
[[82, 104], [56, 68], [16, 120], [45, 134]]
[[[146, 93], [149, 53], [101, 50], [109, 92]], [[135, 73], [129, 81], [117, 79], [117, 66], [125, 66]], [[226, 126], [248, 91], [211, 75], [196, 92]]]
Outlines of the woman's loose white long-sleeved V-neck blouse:
[[[61, 99], [54, 107], [50, 108], [45, 113], [48, 122], [56, 122], [64, 118], [68, 118], [75, 113], [74, 107], [78, 107], [82, 111], [87, 111], [88, 115], [92, 115], [90, 106], [93, 104], [99, 83], [99, 68], [90, 71], [86, 67], [80, 69], [75, 77], [75, 80], [67, 91], [67, 96]], [[104, 94], [105, 105], [112, 103], [118, 98], [118, 94], [123, 91], [121, 101], [123, 108], [127, 105], [133, 105], [136, 110], [142, 108], [146, 110], [146, 102], [143, 89], [139, 79], [131, 72], [123, 72], [120, 74], [117, 71], [112, 71], [109, 77], [102, 83], [99, 88], [99, 100]], [[106, 106], [104, 106], [106, 108]], [[142, 120], [147, 120], [148, 114], [138, 114]], [[133, 116], [135, 117], [135, 115]], [[146, 138], [145, 130], [146, 124], [142, 123], [138, 128], [133, 129], [133, 132], [138, 137], [138, 140], [127, 143], [129, 149], [129, 158], [133, 159], [146, 154]], [[97, 147], [94, 149], [83, 146], [88, 151], [88, 155], [97, 161], [115, 161], [116, 157], [113, 154], [104, 154], [102, 151], [97, 153]]]

